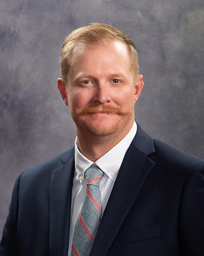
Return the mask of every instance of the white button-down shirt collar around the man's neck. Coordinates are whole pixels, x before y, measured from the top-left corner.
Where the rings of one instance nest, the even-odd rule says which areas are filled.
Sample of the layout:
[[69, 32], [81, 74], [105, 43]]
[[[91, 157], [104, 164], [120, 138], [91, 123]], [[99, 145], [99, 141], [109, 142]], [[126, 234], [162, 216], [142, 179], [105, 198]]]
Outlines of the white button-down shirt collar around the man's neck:
[[[135, 137], [137, 132], [137, 124], [133, 123], [133, 126], [130, 132], [109, 152], [107, 152], [104, 156], [100, 157], [95, 164], [103, 170], [103, 172], [112, 180], [115, 181], [117, 174], [119, 172], [120, 166], [122, 164], [124, 155], [129, 148], [133, 138]], [[91, 160], [87, 159], [79, 150], [77, 138], [75, 139], [75, 170], [77, 179], [82, 183], [84, 180], [84, 173], [86, 169], [94, 164]]]

